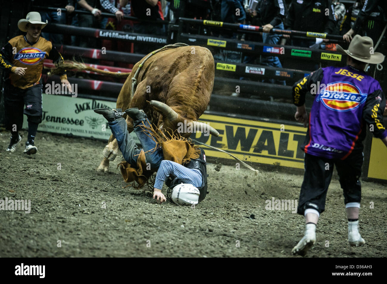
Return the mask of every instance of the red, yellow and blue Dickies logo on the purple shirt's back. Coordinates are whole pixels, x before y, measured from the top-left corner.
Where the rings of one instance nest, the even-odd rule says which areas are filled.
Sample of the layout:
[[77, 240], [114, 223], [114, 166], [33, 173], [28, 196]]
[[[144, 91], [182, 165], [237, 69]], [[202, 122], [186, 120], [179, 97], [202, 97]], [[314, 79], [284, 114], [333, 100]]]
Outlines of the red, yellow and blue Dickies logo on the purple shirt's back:
[[321, 100], [328, 109], [350, 111], [365, 102], [366, 94], [361, 94], [358, 87], [348, 82], [334, 82], [322, 88], [317, 101]]

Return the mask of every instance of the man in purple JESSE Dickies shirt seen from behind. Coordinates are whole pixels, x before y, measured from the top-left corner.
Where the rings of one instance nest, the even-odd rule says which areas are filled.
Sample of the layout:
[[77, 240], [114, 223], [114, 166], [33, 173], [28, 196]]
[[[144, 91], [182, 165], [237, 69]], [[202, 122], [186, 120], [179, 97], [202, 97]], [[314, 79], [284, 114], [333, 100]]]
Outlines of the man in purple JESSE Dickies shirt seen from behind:
[[[297, 211], [305, 216], [305, 235], [293, 248], [293, 254], [305, 254], [316, 241], [316, 225], [325, 209], [334, 165], [344, 193], [349, 245], [365, 244], [358, 230], [358, 218], [366, 131], [387, 146], [383, 126], [385, 95], [379, 82], [363, 71], [366, 63], [382, 63], [384, 55], [373, 53], [372, 39], [359, 35], [354, 36], [348, 50], [337, 45], [337, 51], [347, 55], [348, 66], [320, 68], [293, 86], [295, 118], [305, 127], [309, 122], [302, 146], [305, 174]], [[309, 119], [305, 109], [307, 91], [315, 95]]]

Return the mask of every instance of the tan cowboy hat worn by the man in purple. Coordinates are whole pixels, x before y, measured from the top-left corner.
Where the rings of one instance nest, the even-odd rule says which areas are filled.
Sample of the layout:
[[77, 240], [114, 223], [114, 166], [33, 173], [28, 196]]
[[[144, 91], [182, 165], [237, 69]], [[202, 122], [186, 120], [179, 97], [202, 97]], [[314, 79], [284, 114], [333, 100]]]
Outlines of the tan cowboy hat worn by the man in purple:
[[359, 36], [356, 34], [351, 43], [349, 44], [348, 50], [344, 50], [337, 44], [336, 51], [341, 54], [347, 54], [352, 58], [361, 62], [370, 64], [379, 64], [384, 61], [384, 55], [380, 52], [371, 54], [373, 50], [373, 41], [371, 37]]

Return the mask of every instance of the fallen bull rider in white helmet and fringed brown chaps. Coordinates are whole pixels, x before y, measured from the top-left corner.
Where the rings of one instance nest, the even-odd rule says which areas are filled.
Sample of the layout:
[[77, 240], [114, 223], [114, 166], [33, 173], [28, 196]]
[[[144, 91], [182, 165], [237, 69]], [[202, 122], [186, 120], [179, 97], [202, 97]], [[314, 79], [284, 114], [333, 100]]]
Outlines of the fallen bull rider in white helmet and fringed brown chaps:
[[[95, 109], [102, 114], [117, 139], [126, 162], [118, 164], [125, 182], [144, 186], [157, 171], [153, 186], [153, 199], [161, 203], [166, 197], [161, 192], [164, 182], [169, 187], [167, 197], [178, 205], [194, 205], [207, 194], [207, 167], [205, 153], [180, 134], [172, 133], [171, 138], [156, 133], [144, 111], [137, 108], [125, 112], [134, 120], [134, 132], [140, 140], [139, 149], [127, 130], [122, 109]], [[150, 166], [150, 168], [149, 168]]]

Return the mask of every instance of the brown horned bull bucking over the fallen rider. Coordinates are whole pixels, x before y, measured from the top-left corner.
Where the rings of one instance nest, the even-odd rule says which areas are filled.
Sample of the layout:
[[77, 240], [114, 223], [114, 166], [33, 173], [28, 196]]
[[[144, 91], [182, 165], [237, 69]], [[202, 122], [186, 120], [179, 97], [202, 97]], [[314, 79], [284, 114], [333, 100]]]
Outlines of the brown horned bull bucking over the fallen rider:
[[[196, 129], [204, 127], [210, 134], [218, 136], [214, 128], [197, 122], [209, 104], [214, 85], [214, 58], [211, 52], [201, 46], [182, 46], [152, 55], [137, 75], [137, 86], [132, 96], [132, 77], [143, 60], [134, 65], [122, 86], [116, 108], [143, 109], [151, 123], [157, 125], [162, 121], [159, 128], [175, 131], [179, 122], [185, 122]], [[132, 119], [127, 116], [126, 122], [128, 131], [132, 132]], [[109, 160], [115, 159], [118, 149], [118, 143], [111, 135], [103, 151], [105, 158], [97, 170], [107, 172]]]

